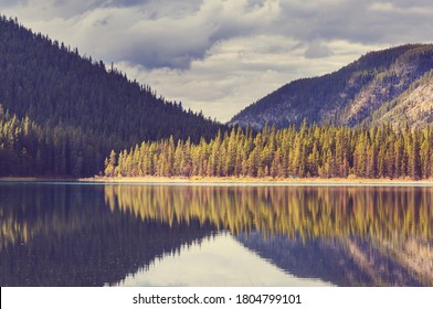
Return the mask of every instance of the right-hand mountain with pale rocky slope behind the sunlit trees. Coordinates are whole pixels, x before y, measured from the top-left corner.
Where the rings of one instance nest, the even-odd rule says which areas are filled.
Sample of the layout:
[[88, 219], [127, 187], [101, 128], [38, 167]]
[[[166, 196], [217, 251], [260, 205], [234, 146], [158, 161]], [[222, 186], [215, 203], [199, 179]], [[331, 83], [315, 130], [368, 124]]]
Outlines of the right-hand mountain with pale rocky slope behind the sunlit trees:
[[433, 44], [402, 45], [371, 52], [337, 72], [294, 81], [250, 105], [230, 121], [262, 128], [310, 122], [433, 120]]

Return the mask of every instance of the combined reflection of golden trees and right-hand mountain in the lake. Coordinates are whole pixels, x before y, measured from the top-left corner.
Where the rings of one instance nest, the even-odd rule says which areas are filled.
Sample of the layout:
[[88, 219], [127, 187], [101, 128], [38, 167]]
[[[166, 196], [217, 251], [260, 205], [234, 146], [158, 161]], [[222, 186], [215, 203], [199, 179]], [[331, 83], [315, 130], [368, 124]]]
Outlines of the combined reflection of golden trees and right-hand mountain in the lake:
[[433, 188], [114, 185], [105, 193], [108, 205], [139, 217], [282, 235], [291, 258], [311, 257], [304, 267], [311, 276], [348, 273], [328, 278], [339, 285], [433, 285]]

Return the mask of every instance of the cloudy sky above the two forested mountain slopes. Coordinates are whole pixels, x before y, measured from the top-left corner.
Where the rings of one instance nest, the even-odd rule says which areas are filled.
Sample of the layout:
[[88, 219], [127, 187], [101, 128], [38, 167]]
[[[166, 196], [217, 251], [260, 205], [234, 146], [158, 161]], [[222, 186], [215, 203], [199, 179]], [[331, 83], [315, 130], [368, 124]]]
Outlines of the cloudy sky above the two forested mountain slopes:
[[0, 13], [221, 121], [293, 79], [433, 41], [431, 0], [1, 0]]

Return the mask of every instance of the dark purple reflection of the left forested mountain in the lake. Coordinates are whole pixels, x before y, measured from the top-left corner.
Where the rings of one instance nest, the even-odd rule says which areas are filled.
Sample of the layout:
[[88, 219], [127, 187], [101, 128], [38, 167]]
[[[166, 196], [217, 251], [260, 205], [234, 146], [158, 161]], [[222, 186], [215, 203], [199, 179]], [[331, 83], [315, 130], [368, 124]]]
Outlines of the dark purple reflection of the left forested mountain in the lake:
[[[197, 220], [139, 220], [83, 185], [0, 185], [0, 286], [103, 286], [212, 234]], [[6, 235], [9, 235], [6, 238]], [[7, 239], [7, 241], [6, 241]]]

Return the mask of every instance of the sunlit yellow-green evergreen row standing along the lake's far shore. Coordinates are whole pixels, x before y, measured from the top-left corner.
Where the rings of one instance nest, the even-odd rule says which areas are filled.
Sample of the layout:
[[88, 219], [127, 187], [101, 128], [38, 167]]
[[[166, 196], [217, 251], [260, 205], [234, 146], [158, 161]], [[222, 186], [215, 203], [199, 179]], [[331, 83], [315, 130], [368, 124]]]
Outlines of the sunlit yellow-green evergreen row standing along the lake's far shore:
[[348, 128], [307, 125], [256, 134], [233, 128], [209, 142], [173, 138], [114, 150], [105, 160], [107, 177], [432, 177], [433, 126], [391, 125]]

